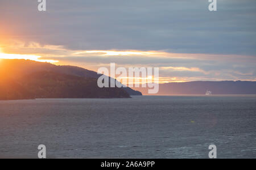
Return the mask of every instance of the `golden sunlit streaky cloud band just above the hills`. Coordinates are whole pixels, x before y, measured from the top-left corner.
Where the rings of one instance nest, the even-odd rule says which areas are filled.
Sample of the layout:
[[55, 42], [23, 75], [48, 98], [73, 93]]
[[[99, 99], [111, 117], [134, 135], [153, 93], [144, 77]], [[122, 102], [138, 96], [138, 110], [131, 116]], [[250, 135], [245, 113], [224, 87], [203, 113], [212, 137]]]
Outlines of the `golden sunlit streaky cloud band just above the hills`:
[[[97, 71], [114, 62], [118, 67], [159, 67], [160, 81], [188, 80], [254, 80], [253, 56], [218, 54], [176, 54], [163, 51], [83, 51], [59, 45], [15, 41], [3, 48], [0, 58], [26, 58], [36, 61], [59, 61], [58, 65], [76, 65]], [[16, 52], [16, 54], [8, 52]], [[22, 52], [22, 54], [20, 54]]]

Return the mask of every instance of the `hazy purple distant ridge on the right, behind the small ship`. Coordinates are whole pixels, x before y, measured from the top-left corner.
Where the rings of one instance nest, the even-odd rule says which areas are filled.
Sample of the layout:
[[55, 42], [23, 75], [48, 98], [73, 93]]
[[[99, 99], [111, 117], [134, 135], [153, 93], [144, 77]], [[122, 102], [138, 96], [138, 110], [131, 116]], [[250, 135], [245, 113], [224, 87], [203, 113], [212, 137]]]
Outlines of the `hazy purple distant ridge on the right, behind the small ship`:
[[[147, 88], [134, 88], [147, 95]], [[222, 82], [184, 82], [159, 84], [159, 92], [155, 95], [205, 95], [212, 91], [213, 95], [254, 95], [256, 82], [222, 81]]]

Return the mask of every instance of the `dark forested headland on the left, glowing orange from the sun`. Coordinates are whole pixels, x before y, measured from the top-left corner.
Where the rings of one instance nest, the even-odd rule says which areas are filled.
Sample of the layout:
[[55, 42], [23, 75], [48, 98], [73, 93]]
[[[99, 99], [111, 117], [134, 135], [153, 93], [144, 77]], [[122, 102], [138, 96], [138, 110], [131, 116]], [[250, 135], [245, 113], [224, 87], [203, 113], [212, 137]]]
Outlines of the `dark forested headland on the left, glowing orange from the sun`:
[[94, 71], [25, 59], [1, 59], [0, 100], [36, 98], [129, 98], [126, 88], [99, 88]]

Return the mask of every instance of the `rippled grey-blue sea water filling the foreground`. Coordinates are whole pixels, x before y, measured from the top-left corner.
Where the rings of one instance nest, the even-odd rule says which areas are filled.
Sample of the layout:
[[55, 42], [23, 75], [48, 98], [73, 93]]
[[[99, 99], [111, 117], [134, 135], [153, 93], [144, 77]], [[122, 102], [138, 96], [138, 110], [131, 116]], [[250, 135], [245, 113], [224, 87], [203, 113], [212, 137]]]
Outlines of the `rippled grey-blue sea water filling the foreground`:
[[256, 158], [256, 96], [0, 101], [0, 158]]

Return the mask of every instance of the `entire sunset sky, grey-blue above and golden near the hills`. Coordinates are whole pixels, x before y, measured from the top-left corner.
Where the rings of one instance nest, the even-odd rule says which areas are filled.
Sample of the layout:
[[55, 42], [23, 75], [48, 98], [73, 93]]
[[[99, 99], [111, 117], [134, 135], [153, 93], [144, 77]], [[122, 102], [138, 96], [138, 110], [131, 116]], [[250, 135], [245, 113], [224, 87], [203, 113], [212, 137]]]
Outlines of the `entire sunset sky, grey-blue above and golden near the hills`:
[[0, 0], [0, 58], [159, 67], [162, 83], [256, 80], [256, 1]]

